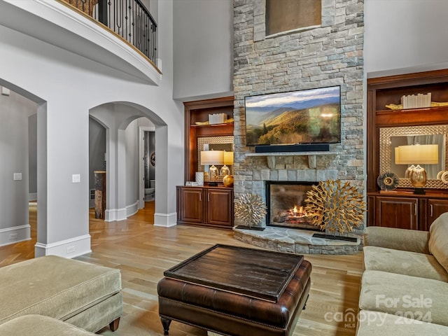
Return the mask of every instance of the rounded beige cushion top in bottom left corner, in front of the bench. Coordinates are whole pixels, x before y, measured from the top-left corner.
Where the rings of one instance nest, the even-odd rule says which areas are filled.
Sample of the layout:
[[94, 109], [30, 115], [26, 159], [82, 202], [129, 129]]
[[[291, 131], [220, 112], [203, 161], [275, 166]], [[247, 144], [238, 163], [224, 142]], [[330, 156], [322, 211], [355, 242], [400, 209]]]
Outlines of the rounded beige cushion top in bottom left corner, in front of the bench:
[[8, 336], [95, 336], [56, 318], [42, 315], [25, 315], [0, 325], [0, 335]]

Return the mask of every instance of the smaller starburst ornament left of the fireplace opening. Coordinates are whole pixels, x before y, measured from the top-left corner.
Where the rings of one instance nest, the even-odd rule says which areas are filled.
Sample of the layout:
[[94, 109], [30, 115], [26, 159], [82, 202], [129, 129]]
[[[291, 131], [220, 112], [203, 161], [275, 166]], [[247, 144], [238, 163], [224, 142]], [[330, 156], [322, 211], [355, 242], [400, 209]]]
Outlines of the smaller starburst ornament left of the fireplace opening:
[[266, 205], [259, 195], [244, 194], [235, 203], [235, 217], [248, 227], [258, 225], [266, 216]]

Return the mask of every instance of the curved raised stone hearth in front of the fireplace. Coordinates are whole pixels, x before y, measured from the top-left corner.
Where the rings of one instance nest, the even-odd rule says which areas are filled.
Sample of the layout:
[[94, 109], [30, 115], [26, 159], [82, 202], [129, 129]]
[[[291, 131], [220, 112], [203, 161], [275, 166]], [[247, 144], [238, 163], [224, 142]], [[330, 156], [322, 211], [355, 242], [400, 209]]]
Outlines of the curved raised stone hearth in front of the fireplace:
[[277, 228], [267, 226], [265, 230], [234, 228], [234, 237], [240, 241], [271, 251], [300, 254], [355, 254], [360, 249], [360, 238], [356, 242], [312, 237], [315, 231]]

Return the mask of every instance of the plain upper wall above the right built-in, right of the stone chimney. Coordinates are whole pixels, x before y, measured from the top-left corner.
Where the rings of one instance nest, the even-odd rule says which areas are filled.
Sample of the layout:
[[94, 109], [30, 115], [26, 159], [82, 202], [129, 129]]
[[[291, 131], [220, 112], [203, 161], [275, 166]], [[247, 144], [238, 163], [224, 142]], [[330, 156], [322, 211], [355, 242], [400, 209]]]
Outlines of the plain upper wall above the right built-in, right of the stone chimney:
[[448, 68], [448, 1], [365, 0], [364, 6], [368, 76]]

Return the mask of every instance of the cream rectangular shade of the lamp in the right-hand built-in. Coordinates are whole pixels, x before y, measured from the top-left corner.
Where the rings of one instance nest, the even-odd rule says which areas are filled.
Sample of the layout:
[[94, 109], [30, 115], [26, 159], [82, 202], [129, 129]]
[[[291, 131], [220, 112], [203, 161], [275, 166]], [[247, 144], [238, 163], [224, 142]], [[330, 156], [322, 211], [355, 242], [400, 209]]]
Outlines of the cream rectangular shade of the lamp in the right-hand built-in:
[[438, 145], [409, 145], [395, 147], [395, 165], [437, 165]]

